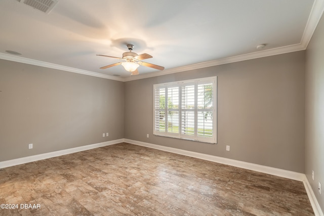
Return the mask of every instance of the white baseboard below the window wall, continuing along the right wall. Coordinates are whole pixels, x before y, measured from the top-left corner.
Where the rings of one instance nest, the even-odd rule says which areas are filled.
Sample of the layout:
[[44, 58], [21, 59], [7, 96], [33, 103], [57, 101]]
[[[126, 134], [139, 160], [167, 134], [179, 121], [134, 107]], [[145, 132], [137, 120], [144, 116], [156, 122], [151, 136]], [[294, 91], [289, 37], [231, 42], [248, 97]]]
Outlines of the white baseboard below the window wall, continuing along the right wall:
[[171, 153], [195, 157], [195, 158], [199, 158], [199, 159], [203, 159], [203, 160], [209, 160], [209, 161], [213, 161], [213, 162], [217, 162], [217, 163], [227, 164], [227, 165], [231, 165], [231, 166], [235, 166], [235, 167], [239, 167], [239, 168], [245, 168], [245, 169], [250, 169], [250, 170], [254, 170], [254, 171], [259, 171], [259, 172], [263, 172], [265, 174], [270, 174], [273, 176], [278, 176], [278, 177], [283, 177], [283, 178], [287, 178], [287, 179], [301, 181], [304, 183], [305, 190], [307, 192], [307, 196], [309, 198], [309, 201], [313, 208], [315, 216], [324, 216], [305, 174], [301, 174], [299, 172], [289, 171], [289, 170], [285, 170], [285, 169], [273, 168], [270, 166], [263, 166], [263, 165], [259, 165], [259, 164], [228, 159], [228, 158], [224, 158], [224, 157], [202, 154], [202, 153], [197, 153], [197, 152], [192, 152], [192, 151], [187, 151], [187, 150], [182, 150], [182, 149], [176, 149], [176, 148], [172, 148], [172, 147], [160, 146], [160, 145], [155, 145], [155, 144], [145, 143], [145, 142], [140, 142], [140, 141], [135, 141], [135, 140], [124, 139], [124, 142], [134, 144], [134, 145], [144, 146], [144, 147], [148, 147], [148, 148], [152, 148], [152, 149], [157, 149], [157, 150], [161, 150], [161, 151], [167, 151], [167, 152], [171, 152]]

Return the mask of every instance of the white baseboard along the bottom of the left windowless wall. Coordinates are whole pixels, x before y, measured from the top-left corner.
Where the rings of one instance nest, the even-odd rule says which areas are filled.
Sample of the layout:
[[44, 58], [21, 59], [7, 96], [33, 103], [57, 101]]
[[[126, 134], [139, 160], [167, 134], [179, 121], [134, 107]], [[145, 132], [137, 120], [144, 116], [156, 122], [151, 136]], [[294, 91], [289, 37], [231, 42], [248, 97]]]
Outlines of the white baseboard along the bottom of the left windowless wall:
[[22, 158], [17, 158], [17, 159], [12, 159], [12, 160], [6, 160], [6, 161], [0, 161], [0, 168], [5, 168], [9, 166], [15, 166], [23, 163], [29, 163], [37, 160], [44, 160], [47, 158], [51, 157], [57, 157], [65, 154], [71, 154], [75, 152], [80, 152], [80, 151], [86, 151], [89, 149], [94, 149], [94, 148], [99, 148], [103, 146], [109, 146], [117, 143], [123, 143], [124, 139], [119, 139], [119, 140], [112, 140], [112, 141], [107, 141], [103, 143], [96, 143], [96, 144], [91, 144], [87, 146], [80, 146], [80, 147], [75, 147], [75, 148], [70, 148], [70, 149], [63, 149], [59, 151], [54, 151], [54, 152], [49, 152], [49, 153], [44, 153], [44, 154], [37, 154], [37, 155], [32, 155], [28, 157], [22, 157]]

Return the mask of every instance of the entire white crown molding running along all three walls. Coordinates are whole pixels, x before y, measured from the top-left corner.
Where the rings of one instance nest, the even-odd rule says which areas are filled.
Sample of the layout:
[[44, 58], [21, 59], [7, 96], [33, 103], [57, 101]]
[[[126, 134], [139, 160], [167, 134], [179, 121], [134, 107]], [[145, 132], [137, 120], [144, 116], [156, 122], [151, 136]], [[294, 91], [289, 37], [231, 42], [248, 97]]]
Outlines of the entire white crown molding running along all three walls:
[[233, 63], [233, 62], [246, 61], [246, 60], [257, 59], [257, 58], [262, 58], [262, 57], [267, 57], [267, 56], [273, 56], [273, 55], [279, 55], [279, 54], [285, 54], [285, 53], [306, 50], [308, 43], [309, 43], [309, 41], [317, 27], [317, 24], [323, 14], [323, 12], [324, 12], [324, 0], [315, 0], [314, 4], [312, 6], [311, 12], [309, 14], [308, 21], [306, 23], [305, 30], [302, 35], [300, 44], [289, 45], [289, 46], [279, 47], [279, 48], [273, 48], [273, 49], [269, 49], [269, 50], [262, 50], [262, 51], [258, 51], [258, 52], [254, 52], [254, 53], [242, 54], [242, 55], [238, 55], [238, 56], [197, 63], [197, 64], [187, 65], [187, 66], [183, 66], [183, 67], [177, 67], [177, 68], [167, 69], [167, 70], [163, 70], [163, 71], [158, 71], [158, 72], [139, 74], [136, 76], [126, 77], [126, 78], [110, 76], [110, 75], [106, 75], [106, 74], [102, 74], [102, 73], [81, 70], [81, 69], [77, 69], [77, 68], [52, 64], [52, 63], [48, 63], [48, 62], [42, 62], [42, 61], [33, 60], [33, 59], [27, 59], [27, 58], [23, 58], [20, 56], [12, 56], [12, 55], [8, 55], [8, 54], [4, 54], [4, 53], [0, 53], [0, 59], [20, 62], [20, 63], [25, 63], [25, 64], [31, 64], [31, 65], [37, 65], [37, 66], [41, 66], [41, 67], [48, 67], [48, 68], [53, 68], [53, 69], [58, 69], [58, 70], [64, 70], [64, 71], [69, 71], [69, 72], [73, 72], [73, 73], [80, 73], [80, 74], [85, 74], [85, 75], [89, 75], [89, 76], [96, 76], [96, 77], [105, 78], [105, 79], [112, 79], [112, 80], [116, 80], [116, 81], [127, 82], [127, 81], [132, 81], [132, 80], [137, 80], [137, 79], [162, 76], [162, 75], [178, 73], [178, 72], [183, 72], [183, 71], [188, 71], [188, 70], [195, 70], [195, 69], [199, 69], [199, 68], [212, 67], [212, 66], [216, 66], [216, 65], [228, 64], [228, 63]]

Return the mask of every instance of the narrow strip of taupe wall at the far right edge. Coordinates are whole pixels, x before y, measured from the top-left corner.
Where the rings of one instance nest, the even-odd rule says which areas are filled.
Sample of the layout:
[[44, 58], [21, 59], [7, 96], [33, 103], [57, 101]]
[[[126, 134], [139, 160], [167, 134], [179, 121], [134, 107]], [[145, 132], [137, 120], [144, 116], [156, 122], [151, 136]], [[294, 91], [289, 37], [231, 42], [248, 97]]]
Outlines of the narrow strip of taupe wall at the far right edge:
[[[312, 180], [314, 170], [314, 181]], [[324, 211], [324, 18], [306, 50], [305, 174]], [[318, 182], [322, 194], [318, 192]]]

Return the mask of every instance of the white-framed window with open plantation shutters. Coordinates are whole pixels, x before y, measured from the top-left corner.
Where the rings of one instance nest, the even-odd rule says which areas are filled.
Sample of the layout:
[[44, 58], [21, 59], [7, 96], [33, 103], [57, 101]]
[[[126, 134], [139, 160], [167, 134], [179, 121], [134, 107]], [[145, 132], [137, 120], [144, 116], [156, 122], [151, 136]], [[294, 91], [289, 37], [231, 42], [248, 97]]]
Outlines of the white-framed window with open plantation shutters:
[[153, 134], [216, 143], [217, 77], [154, 85]]

